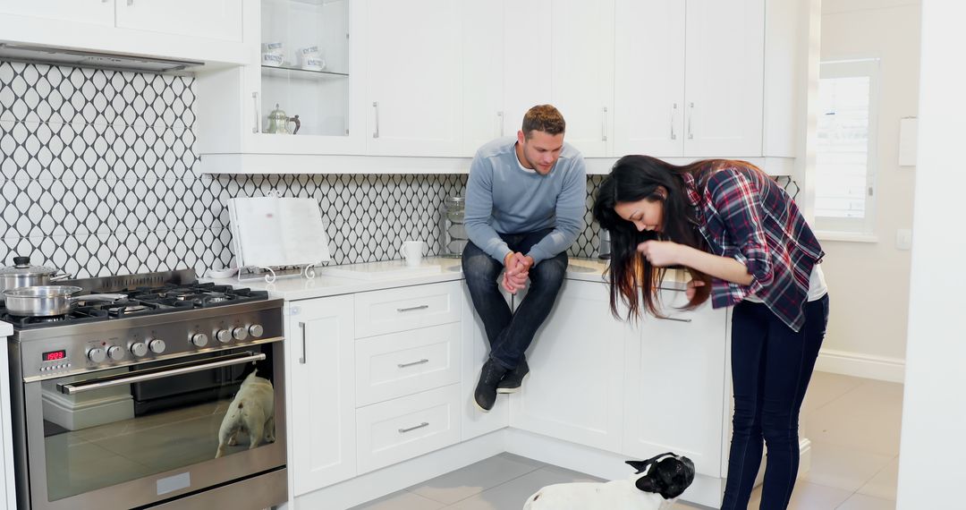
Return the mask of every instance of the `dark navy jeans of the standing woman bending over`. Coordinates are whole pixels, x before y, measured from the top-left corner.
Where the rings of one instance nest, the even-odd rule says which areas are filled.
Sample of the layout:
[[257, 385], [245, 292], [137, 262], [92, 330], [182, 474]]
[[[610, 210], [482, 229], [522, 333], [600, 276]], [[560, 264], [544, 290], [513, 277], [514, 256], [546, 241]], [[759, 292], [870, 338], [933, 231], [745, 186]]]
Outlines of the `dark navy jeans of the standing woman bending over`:
[[806, 304], [805, 326], [797, 333], [762, 303], [735, 305], [734, 418], [723, 510], [748, 508], [761, 465], [762, 439], [768, 444], [768, 462], [759, 508], [787, 508], [798, 473], [798, 413], [828, 322], [828, 295]]

